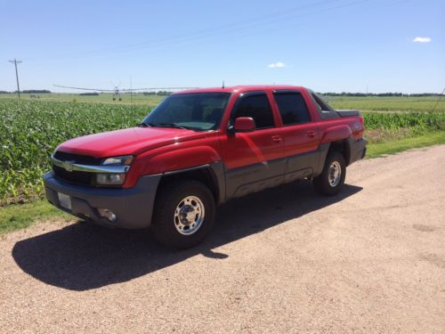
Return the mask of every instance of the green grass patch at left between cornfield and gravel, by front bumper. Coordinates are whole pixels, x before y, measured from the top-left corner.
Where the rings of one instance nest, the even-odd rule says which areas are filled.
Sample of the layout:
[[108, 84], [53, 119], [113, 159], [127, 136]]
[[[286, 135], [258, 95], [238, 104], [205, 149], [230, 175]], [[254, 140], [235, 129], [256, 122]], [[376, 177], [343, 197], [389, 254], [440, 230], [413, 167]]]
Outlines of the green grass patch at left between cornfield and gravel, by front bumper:
[[76, 218], [54, 208], [46, 200], [14, 204], [0, 207], [0, 234], [24, 229], [38, 221], [63, 220], [69, 222], [74, 219]]

